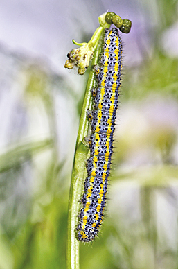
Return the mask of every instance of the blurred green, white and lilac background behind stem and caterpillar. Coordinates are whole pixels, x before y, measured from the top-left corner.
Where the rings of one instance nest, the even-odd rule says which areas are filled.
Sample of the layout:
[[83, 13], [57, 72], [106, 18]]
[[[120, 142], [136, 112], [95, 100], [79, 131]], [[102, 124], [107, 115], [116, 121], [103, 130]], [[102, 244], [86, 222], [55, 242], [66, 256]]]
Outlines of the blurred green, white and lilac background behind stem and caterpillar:
[[82, 269], [178, 268], [177, 0], [1, 0], [0, 268], [66, 268], [71, 169], [86, 73], [64, 69], [98, 16], [132, 20], [114, 164]]

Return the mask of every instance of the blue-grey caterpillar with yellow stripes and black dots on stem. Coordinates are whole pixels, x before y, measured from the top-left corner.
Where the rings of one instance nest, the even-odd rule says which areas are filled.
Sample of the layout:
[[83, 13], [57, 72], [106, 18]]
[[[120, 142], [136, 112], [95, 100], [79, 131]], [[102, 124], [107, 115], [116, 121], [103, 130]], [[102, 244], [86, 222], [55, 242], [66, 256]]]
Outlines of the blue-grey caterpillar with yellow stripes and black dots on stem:
[[98, 87], [92, 90], [94, 110], [88, 112], [91, 124], [88, 175], [77, 227], [77, 237], [82, 242], [90, 242], [98, 235], [106, 203], [122, 69], [122, 43], [116, 28], [105, 29], [103, 54], [96, 69]]

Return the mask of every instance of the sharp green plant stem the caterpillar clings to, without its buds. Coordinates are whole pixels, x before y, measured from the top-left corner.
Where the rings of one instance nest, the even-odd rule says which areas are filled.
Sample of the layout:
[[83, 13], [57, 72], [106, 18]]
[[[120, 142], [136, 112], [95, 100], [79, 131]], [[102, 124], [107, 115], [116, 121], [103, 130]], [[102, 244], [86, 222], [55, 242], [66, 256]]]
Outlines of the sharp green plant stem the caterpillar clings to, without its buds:
[[[94, 58], [91, 63], [91, 67], [98, 63], [98, 56], [100, 54], [100, 44], [98, 41], [103, 29], [106, 28], [108, 24], [103, 27], [98, 27], [94, 33], [95, 50]], [[66, 255], [66, 268], [67, 269], [79, 269], [79, 241], [75, 237], [75, 229], [78, 224], [78, 213], [80, 210], [80, 198], [82, 193], [82, 186], [84, 180], [84, 173], [86, 171], [85, 164], [87, 161], [87, 155], [89, 153], [89, 147], [84, 142], [84, 137], [87, 137], [89, 121], [87, 119], [87, 110], [91, 110], [91, 88], [94, 85], [94, 71], [90, 70], [89, 79], [87, 82], [87, 87], [84, 96], [84, 102], [82, 106], [82, 112], [80, 116], [80, 125], [78, 130], [78, 138], [75, 146], [75, 157], [73, 162], [73, 171], [71, 176], [71, 188], [69, 193], [69, 215], [68, 215], [68, 238], [67, 238], [67, 255]]]

